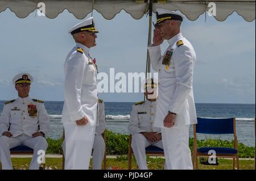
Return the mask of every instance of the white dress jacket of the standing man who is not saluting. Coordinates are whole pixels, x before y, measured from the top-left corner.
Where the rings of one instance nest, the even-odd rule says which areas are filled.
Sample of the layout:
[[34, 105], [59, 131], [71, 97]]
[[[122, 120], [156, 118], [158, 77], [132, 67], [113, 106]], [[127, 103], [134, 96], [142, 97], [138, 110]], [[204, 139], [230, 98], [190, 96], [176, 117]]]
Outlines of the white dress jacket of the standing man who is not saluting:
[[[83, 52], [77, 51], [82, 48]], [[70, 123], [87, 117], [89, 125], [97, 124], [97, 69], [89, 56], [89, 48], [77, 43], [68, 54], [64, 65], [65, 102], [63, 123]]]

